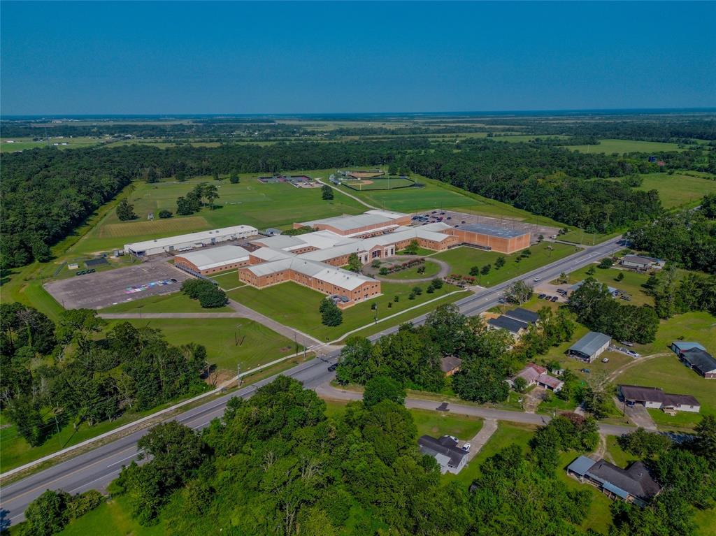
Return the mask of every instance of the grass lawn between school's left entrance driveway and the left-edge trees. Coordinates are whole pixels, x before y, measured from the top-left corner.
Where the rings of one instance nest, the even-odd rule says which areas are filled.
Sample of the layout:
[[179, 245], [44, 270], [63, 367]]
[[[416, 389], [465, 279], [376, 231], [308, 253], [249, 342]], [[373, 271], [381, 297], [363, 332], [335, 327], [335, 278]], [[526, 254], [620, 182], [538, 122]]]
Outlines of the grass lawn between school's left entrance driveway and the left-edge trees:
[[[110, 321], [110, 326], [119, 322]], [[294, 341], [247, 318], [137, 318], [128, 322], [160, 329], [175, 346], [203, 344], [207, 361], [231, 374], [236, 374], [237, 364], [247, 371], [296, 351]]]

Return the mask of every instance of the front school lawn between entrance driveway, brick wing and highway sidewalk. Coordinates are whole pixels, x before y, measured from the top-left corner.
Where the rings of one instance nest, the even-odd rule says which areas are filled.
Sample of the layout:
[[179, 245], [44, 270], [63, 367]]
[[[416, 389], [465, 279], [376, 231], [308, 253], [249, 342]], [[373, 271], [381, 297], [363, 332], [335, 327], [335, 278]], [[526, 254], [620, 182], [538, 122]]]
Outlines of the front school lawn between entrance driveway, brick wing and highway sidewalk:
[[[372, 322], [376, 315], [378, 318], [383, 318], [400, 313], [400, 311], [409, 307], [420, 305], [420, 303], [433, 298], [439, 298], [455, 289], [445, 285], [440, 291], [428, 294], [425, 292], [427, 283], [420, 283], [417, 286], [422, 288], [422, 294], [417, 296], [415, 300], [409, 300], [408, 295], [415, 286], [413, 284], [382, 283], [382, 296], [347, 308], [343, 311], [343, 323], [335, 327], [324, 326], [321, 323], [321, 314], [318, 308], [321, 300], [325, 298], [324, 294], [292, 281], [262, 289], [245, 286], [229, 292], [228, 296], [238, 301], [238, 303], [243, 303], [243, 305], [259, 313], [286, 324], [286, 326], [309, 333], [316, 338], [320, 338], [321, 341], [326, 339], [332, 341], [347, 331]], [[399, 296], [397, 303], [393, 301], [395, 296]], [[372, 311], [371, 306], [373, 303], [377, 304], [377, 311]], [[388, 308], [388, 303], [391, 303], [390, 308]], [[388, 325], [390, 324], [378, 324], [381, 329]]]

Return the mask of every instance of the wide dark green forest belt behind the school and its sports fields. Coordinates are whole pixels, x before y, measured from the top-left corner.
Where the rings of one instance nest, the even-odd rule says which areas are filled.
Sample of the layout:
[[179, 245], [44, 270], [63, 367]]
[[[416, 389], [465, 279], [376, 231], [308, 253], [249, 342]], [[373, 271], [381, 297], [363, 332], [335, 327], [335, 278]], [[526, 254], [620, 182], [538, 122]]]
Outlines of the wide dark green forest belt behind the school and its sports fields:
[[[165, 177], [275, 173], [395, 163], [470, 192], [538, 215], [609, 232], [661, 213], [657, 193], [606, 180], [673, 166], [706, 168], [700, 151], [667, 156], [665, 168], [647, 155], [581, 154], [562, 147], [464, 140], [452, 143], [395, 137], [342, 143], [149, 147], [125, 145], [60, 151], [52, 147], [0, 155], [2, 266], [49, 260], [49, 246], [132, 180]], [[676, 155], [679, 155], [678, 157]], [[689, 157], [688, 155], [692, 155]], [[688, 160], [691, 158], [691, 160]]]

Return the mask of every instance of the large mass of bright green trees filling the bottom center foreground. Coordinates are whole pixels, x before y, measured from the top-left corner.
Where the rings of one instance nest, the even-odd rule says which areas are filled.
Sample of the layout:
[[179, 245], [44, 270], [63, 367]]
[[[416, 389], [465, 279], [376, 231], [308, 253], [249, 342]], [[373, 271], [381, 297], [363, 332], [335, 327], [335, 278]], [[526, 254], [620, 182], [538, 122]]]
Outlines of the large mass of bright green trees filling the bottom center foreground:
[[201, 434], [153, 429], [140, 445], [150, 461], [125, 468], [112, 494], [176, 535], [584, 534], [589, 491], [519, 447], [485, 462], [469, 490], [442, 484], [410, 412], [379, 392], [328, 418], [314, 391], [281, 376]]

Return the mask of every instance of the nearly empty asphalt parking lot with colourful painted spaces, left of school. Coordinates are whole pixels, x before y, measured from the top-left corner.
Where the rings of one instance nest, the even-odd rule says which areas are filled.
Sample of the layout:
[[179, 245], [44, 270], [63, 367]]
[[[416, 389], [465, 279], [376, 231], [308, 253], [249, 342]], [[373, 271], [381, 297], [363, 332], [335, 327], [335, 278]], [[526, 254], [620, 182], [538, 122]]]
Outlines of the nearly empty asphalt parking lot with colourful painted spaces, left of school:
[[100, 309], [123, 301], [177, 292], [188, 278], [188, 273], [170, 263], [155, 260], [51, 281], [44, 287], [66, 309]]

